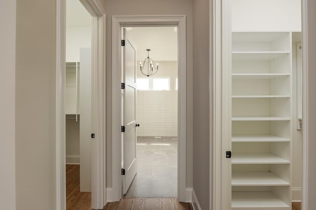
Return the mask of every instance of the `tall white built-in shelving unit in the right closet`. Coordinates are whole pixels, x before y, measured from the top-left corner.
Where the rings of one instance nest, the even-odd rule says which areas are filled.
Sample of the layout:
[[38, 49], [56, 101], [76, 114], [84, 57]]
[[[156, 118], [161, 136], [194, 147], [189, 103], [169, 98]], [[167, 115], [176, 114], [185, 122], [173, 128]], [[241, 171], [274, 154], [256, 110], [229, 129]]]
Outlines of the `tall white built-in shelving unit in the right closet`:
[[291, 32], [232, 41], [232, 209], [290, 210]]

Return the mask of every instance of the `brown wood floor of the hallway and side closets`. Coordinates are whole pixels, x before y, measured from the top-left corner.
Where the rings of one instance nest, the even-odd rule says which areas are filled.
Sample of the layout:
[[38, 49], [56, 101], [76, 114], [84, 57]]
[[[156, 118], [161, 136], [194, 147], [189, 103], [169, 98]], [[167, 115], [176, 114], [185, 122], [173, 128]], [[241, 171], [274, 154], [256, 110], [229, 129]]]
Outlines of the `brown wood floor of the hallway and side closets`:
[[[91, 210], [91, 193], [80, 192], [79, 174], [79, 165], [66, 165], [67, 210]], [[176, 198], [123, 198], [108, 203], [104, 210], [192, 210], [192, 207]], [[292, 203], [292, 210], [301, 210], [301, 203]]]

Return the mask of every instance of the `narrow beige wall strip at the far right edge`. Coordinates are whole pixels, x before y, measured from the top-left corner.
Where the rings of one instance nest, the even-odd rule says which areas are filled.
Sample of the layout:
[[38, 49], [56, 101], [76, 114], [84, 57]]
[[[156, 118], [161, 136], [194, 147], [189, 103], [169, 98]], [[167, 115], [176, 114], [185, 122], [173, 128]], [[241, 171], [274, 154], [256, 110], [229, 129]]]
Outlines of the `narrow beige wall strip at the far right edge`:
[[[308, 205], [305, 206], [303, 210], [313, 210], [316, 206], [316, 164], [315, 164], [315, 149], [316, 149], [316, 129], [315, 129], [315, 122], [316, 122], [316, 1], [315, 0], [306, 0], [307, 1], [307, 40], [308, 46], [304, 46], [305, 40], [303, 39], [303, 61], [307, 59], [307, 69], [309, 70], [307, 76], [307, 86], [308, 86], [308, 104], [307, 104], [307, 112], [308, 112], [308, 121], [306, 124], [303, 124], [305, 128], [308, 127], [309, 132], [307, 133], [308, 136], [308, 146], [307, 146], [307, 153], [308, 153]], [[304, 35], [303, 35], [304, 38]], [[308, 55], [304, 54], [304, 48], [307, 48]], [[305, 58], [305, 59], [304, 59]], [[303, 69], [304, 74], [304, 69]], [[306, 116], [303, 116], [303, 119]], [[304, 129], [303, 127], [303, 129]], [[304, 177], [304, 176], [303, 176]], [[304, 178], [303, 178], [304, 179]], [[304, 182], [305, 180], [303, 180]], [[304, 187], [304, 185], [303, 185]], [[304, 196], [304, 194], [303, 194]], [[304, 199], [304, 197], [303, 197]], [[304, 207], [303, 207], [304, 208]]]

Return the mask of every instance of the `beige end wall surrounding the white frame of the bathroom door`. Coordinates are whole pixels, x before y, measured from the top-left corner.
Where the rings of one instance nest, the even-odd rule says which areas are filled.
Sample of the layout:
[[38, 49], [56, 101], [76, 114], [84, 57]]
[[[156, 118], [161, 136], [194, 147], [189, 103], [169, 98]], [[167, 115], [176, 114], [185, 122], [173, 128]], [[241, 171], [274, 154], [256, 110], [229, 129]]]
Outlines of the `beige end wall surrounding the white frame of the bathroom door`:
[[[186, 15], [187, 17], [187, 187], [192, 187], [192, 0], [105, 0], [107, 15], [107, 187], [112, 187], [112, 16]], [[122, 6], [124, 5], [124, 6]], [[148, 8], [151, 8], [150, 11]]]

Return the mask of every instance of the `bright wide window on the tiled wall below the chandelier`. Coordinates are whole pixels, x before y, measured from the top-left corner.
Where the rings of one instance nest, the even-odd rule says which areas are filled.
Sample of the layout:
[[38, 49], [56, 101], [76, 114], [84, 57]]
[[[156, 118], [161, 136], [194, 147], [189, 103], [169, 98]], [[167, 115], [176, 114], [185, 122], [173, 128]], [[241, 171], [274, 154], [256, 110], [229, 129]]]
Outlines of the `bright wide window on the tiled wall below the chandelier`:
[[170, 78], [137, 78], [137, 90], [170, 90]]

